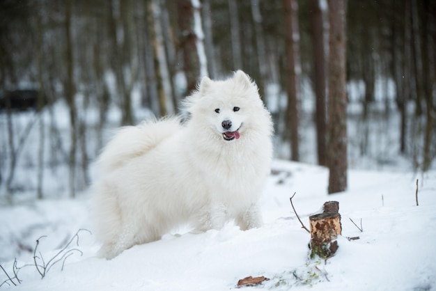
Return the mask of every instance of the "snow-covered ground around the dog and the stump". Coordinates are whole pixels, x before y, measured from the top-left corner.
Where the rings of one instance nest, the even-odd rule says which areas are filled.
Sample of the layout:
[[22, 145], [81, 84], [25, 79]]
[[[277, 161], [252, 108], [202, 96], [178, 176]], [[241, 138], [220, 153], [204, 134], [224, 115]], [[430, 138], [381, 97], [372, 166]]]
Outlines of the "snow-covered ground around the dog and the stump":
[[[233, 290], [247, 276], [270, 281], [247, 287], [271, 290], [436, 290], [436, 171], [349, 171], [348, 191], [327, 195], [326, 168], [274, 161], [262, 197], [265, 226], [241, 231], [232, 223], [202, 234], [182, 230], [134, 246], [113, 260], [95, 257], [98, 244], [78, 233], [70, 256], [41, 279], [33, 262], [46, 265], [80, 228], [92, 230], [88, 198], [41, 200], [0, 208], [0, 264], [18, 278], [2, 290]], [[419, 179], [419, 206], [416, 206]], [[308, 259], [309, 233], [302, 221], [328, 200], [339, 202], [342, 235], [334, 257]], [[361, 232], [352, 219], [360, 227]], [[178, 234], [181, 233], [181, 234]], [[348, 241], [346, 237], [360, 237]], [[66, 250], [67, 251], [67, 250]], [[65, 253], [65, 251], [64, 251]], [[59, 258], [59, 257], [58, 257]], [[38, 260], [41, 264], [42, 262]], [[23, 267], [25, 266], [25, 267]], [[61, 268], [63, 267], [63, 270]], [[0, 269], [0, 281], [6, 281]], [[0, 282], [0, 283], [1, 283]]]

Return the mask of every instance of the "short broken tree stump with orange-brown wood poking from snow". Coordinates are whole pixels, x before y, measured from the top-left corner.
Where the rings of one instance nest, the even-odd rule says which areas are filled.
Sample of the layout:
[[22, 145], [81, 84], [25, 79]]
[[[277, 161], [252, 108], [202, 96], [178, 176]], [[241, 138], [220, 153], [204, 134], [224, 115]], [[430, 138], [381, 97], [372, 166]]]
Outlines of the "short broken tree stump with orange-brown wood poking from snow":
[[[330, 204], [334, 205], [336, 203]], [[334, 208], [339, 209], [338, 203]], [[311, 229], [311, 258], [316, 255], [319, 255], [320, 258], [329, 258], [334, 255], [338, 249], [336, 237], [342, 233], [341, 214], [338, 212], [315, 214], [309, 217], [309, 223]]]

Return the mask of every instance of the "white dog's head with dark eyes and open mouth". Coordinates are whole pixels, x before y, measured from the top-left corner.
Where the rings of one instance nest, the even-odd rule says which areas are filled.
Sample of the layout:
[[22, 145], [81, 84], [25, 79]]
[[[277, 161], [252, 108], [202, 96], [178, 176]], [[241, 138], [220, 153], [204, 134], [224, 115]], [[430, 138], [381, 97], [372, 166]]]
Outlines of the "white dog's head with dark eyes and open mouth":
[[226, 142], [240, 139], [256, 118], [255, 108], [263, 109], [258, 87], [241, 70], [224, 81], [203, 77], [197, 93], [188, 102], [192, 118], [201, 116]]

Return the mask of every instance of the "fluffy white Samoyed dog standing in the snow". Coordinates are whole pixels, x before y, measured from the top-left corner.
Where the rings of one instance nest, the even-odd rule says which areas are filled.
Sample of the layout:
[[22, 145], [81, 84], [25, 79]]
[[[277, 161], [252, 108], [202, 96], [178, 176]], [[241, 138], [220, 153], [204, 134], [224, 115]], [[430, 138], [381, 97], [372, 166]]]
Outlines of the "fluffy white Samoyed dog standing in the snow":
[[185, 106], [185, 123], [123, 127], [100, 155], [93, 217], [105, 258], [187, 223], [194, 232], [233, 219], [242, 230], [262, 225], [273, 129], [256, 84], [240, 70], [224, 81], [203, 77]]

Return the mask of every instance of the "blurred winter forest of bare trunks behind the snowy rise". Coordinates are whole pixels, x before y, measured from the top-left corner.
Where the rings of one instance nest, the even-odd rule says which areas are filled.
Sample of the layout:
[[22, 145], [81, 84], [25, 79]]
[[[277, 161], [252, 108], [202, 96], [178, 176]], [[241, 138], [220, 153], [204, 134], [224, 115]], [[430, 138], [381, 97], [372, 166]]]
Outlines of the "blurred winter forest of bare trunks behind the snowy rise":
[[428, 171], [436, 3], [344, 2], [1, 1], [1, 199], [77, 196], [114, 129], [238, 69], [272, 113], [275, 157]]

